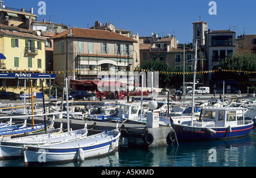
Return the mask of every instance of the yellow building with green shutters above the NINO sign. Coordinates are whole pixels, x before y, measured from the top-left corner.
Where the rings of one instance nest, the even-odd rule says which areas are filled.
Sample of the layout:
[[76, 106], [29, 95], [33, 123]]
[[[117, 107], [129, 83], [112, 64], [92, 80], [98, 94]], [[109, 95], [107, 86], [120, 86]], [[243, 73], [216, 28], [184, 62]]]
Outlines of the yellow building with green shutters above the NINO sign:
[[[0, 73], [44, 73], [46, 70], [46, 40], [39, 33], [1, 25], [0, 53], [6, 59], [1, 60]], [[39, 81], [33, 80], [34, 86]], [[24, 86], [24, 81], [0, 78], [0, 87]]]

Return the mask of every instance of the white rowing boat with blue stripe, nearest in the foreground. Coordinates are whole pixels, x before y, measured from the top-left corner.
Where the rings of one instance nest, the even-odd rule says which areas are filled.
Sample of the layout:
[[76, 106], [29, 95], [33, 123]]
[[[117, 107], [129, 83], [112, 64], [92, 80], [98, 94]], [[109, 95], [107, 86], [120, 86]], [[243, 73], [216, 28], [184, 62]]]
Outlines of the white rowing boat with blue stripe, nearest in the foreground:
[[119, 137], [120, 132], [115, 129], [76, 141], [42, 146], [26, 146], [24, 163], [28, 166], [30, 164], [83, 161], [85, 158], [106, 155], [117, 149]]

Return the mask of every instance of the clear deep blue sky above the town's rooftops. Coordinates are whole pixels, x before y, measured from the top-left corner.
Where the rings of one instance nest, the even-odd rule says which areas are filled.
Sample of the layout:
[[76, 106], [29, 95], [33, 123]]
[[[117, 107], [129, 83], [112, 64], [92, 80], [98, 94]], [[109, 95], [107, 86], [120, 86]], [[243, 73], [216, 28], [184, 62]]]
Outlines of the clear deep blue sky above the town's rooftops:
[[[38, 14], [40, 0], [1, 0], [7, 7], [30, 10]], [[174, 35], [179, 43], [191, 43], [193, 22], [201, 19], [208, 29], [231, 29], [236, 35], [256, 33], [255, 0], [216, 0], [216, 15], [210, 15], [210, 0], [44, 0], [46, 15], [38, 21], [90, 28], [99, 20], [139, 36]]]

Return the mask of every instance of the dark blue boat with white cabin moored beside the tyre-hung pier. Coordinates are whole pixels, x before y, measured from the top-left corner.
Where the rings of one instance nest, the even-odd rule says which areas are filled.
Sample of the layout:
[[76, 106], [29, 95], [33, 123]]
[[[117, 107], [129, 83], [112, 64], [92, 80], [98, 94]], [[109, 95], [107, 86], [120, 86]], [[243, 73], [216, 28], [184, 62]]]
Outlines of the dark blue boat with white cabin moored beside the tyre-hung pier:
[[246, 109], [201, 108], [199, 119], [171, 117], [171, 125], [178, 141], [201, 141], [210, 139], [237, 138], [249, 135], [254, 127], [253, 120], [245, 119]]

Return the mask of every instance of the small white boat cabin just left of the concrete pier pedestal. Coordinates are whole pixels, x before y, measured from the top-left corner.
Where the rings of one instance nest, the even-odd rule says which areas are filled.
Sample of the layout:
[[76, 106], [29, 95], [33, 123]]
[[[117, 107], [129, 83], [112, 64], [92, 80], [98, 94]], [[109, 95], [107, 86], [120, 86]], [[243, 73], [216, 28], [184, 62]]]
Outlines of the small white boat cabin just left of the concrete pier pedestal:
[[139, 103], [127, 103], [119, 105], [119, 118], [134, 119], [141, 114], [141, 104]]

